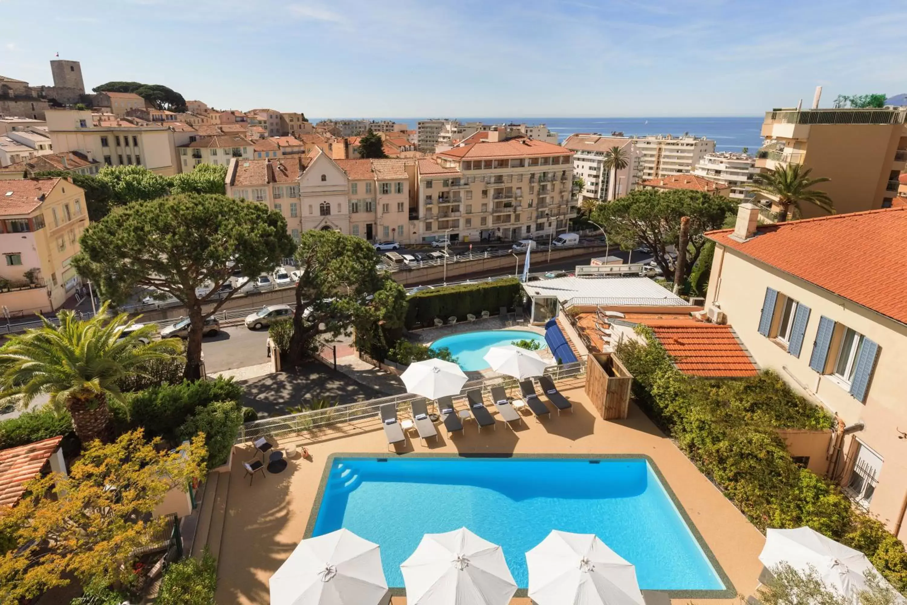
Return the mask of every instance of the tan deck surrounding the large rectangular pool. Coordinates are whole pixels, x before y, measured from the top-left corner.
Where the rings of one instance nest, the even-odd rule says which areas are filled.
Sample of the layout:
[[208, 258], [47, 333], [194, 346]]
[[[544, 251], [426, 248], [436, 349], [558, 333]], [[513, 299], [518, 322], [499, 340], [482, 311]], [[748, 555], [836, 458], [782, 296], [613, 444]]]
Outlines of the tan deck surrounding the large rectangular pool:
[[[764, 536], [639, 408], [631, 404], [626, 420], [602, 420], [581, 385], [569, 388], [570, 385], [567, 382], [560, 386], [573, 403], [572, 415], [552, 414], [541, 423], [532, 416], [524, 416], [522, 427], [517, 427], [516, 431], [499, 421], [496, 430], [484, 430], [481, 434], [475, 424], [468, 421], [464, 434], [450, 438], [439, 430], [437, 443], [432, 440], [427, 447], [418, 441], [414, 431], [410, 431], [407, 436], [415, 437], [415, 441], [400, 448], [398, 455], [415, 452], [649, 456], [736, 591], [744, 597], [752, 594], [762, 570], [757, 556], [765, 543]], [[314, 439], [284, 440], [280, 445], [290, 443], [305, 444], [311, 458], [297, 456], [283, 473], [268, 474], [265, 478], [258, 473], [251, 486], [249, 478], [243, 476], [242, 467], [243, 461], [254, 457], [251, 445], [238, 447], [233, 455], [220, 547], [218, 603], [268, 604], [268, 578], [302, 540], [330, 454], [387, 452], [385, 435], [376, 419], [346, 424], [322, 432]], [[394, 503], [376, 503], [376, 506], [380, 505], [393, 506]], [[394, 597], [392, 602], [403, 605], [406, 600], [405, 597]], [[739, 605], [736, 598], [680, 598], [672, 599], [672, 602], [674, 605], [689, 602]], [[512, 605], [529, 603], [527, 598], [512, 600]]]

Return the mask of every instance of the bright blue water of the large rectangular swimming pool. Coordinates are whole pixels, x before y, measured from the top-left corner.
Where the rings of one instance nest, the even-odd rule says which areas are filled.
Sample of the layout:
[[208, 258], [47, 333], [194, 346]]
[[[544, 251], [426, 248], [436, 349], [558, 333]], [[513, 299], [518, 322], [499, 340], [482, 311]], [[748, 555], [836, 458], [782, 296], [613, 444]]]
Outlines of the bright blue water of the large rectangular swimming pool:
[[313, 535], [345, 527], [376, 542], [388, 586], [425, 533], [466, 527], [502, 546], [517, 586], [551, 530], [595, 533], [648, 590], [724, 585], [644, 459], [355, 458], [329, 471]]

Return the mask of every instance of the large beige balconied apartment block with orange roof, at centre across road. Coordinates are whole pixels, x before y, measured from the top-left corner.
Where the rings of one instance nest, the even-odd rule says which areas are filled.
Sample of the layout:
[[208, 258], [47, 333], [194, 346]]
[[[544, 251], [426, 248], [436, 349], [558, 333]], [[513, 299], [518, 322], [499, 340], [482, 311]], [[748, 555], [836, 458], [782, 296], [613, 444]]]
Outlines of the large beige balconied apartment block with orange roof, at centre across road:
[[434, 161], [417, 161], [416, 236], [479, 241], [556, 235], [576, 211], [572, 156], [560, 145], [509, 139], [468, 143]]

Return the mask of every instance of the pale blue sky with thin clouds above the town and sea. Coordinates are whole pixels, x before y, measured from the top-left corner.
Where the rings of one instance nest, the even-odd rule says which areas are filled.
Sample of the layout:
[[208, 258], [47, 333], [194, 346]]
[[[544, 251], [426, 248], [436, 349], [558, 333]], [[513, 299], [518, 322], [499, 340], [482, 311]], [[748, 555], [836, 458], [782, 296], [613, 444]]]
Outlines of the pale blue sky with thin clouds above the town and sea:
[[907, 91], [903, 0], [0, 0], [0, 73], [309, 116], [756, 115]]

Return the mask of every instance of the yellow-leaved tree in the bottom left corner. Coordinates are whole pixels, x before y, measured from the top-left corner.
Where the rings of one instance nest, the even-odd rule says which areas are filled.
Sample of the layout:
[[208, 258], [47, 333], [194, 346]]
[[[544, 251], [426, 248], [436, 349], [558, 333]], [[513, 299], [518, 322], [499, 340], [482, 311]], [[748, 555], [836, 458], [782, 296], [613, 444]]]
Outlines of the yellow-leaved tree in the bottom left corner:
[[0, 557], [0, 605], [34, 598], [71, 578], [86, 589], [128, 585], [133, 552], [159, 541], [165, 519], [151, 512], [171, 489], [205, 473], [200, 438], [168, 452], [141, 429], [112, 444], [93, 442], [69, 475], [49, 473], [26, 485], [0, 515], [0, 533], [18, 548]]

